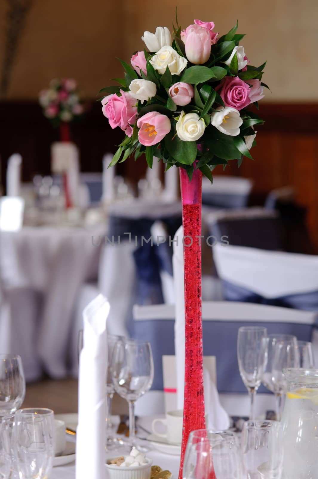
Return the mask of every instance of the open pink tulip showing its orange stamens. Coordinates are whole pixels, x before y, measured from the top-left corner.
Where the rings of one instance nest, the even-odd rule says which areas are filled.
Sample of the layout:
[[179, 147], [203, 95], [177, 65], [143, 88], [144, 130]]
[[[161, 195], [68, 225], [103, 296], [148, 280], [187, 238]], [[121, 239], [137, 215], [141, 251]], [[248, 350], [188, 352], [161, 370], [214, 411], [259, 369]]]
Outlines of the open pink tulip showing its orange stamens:
[[142, 145], [149, 147], [156, 145], [170, 132], [171, 123], [166, 115], [158, 112], [149, 112], [137, 121], [138, 139]]

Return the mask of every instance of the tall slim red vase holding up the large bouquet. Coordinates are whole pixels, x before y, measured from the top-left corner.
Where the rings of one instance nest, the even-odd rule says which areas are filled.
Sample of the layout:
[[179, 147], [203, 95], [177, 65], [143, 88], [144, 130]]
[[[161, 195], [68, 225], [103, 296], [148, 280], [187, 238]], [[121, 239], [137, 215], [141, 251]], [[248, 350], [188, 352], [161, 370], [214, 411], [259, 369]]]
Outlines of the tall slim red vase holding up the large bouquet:
[[[180, 168], [184, 253], [185, 377], [183, 433], [179, 479], [191, 431], [205, 429], [203, 348], [201, 313], [201, 185], [202, 174], [194, 170], [191, 182]], [[209, 474], [210, 479], [215, 478]]]

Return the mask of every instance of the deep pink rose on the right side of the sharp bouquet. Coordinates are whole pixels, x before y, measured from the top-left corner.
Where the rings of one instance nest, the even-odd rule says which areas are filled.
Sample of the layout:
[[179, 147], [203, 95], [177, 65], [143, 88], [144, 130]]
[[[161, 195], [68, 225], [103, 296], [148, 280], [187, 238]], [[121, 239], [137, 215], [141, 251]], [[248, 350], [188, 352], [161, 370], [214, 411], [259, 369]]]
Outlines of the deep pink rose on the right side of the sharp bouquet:
[[231, 106], [236, 110], [242, 110], [251, 103], [249, 90], [247, 83], [239, 77], [224, 77], [220, 85], [215, 88], [224, 105]]

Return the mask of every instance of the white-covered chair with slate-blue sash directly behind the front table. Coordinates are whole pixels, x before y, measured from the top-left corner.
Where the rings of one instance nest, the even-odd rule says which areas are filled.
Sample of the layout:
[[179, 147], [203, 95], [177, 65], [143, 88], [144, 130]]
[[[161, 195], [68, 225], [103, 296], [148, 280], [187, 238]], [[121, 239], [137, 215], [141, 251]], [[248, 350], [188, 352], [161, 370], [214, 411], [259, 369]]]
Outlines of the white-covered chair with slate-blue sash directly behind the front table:
[[[162, 356], [173, 355], [176, 351], [178, 397], [179, 384], [184, 381], [184, 374], [178, 377], [181, 369], [178, 367], [178, 362], [184, 362], [184, 353], [182, 354], [180, 349], [182, 334], [180, 325], [177, 324], [176, 308], [174, 305], [136, 305], [133, 312], [135, 334], [139, 339], [150, 342], [155, 365], [155, 379], [152, 389], [147, 393], [148, 401], [146, 398], [144, 401], [139, 400], [138, 407], [141, 411], [144, 408], [148, 408], [149, 411], [151, 408], [152, 413], [159, 413], [164, 398]], [[203, 354], [216, 356], [217, 389], [220, 401], [225, 410], [234, 416], [245, 416], [249, 411], [247, 391], [240, 377], [237, 363], [237, 333], [241, 326], [253, 325], [266, 327], [269, 334], [293, 334], [299, 340], [313, 341], [316, 360], [318, 360], [318, 339], [313, 334], [318, 325], [317, 312], [236, 301], [203, 301]], [[149, 401], [150, 394], [151, 401]], [[274, 397], [266, 394], [265, 388], [261, 387], [255, 406], [257, 413], [275, 409]], [[180, 408], [180, 404], [178, 407]]]

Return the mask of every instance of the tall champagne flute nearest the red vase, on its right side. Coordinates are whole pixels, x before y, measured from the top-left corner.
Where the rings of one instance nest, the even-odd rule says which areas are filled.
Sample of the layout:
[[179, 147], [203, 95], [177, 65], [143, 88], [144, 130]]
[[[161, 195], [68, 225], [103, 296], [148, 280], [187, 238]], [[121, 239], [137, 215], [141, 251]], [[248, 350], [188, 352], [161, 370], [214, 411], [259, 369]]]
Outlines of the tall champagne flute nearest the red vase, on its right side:
[[267, 330], [261, 326], [243, 326], [237, 337], [237, 359], [240, 375], [248, 390], [254, 418], [254, 397], [259, 388], [267, 362]]

